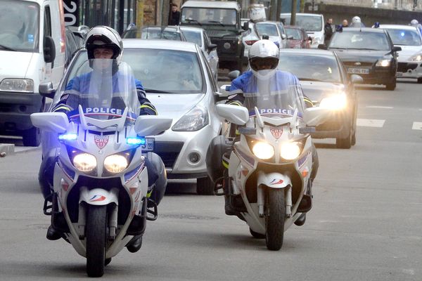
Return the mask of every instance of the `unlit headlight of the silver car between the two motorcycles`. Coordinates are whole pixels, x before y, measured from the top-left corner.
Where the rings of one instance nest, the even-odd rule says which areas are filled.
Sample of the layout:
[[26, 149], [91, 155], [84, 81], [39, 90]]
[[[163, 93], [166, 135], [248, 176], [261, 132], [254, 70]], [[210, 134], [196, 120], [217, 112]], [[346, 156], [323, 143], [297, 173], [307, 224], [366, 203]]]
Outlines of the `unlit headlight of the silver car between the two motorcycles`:
[[208, 111], [196, 106], [172, 127], [173, 131], [198, 131], [208, 124]]

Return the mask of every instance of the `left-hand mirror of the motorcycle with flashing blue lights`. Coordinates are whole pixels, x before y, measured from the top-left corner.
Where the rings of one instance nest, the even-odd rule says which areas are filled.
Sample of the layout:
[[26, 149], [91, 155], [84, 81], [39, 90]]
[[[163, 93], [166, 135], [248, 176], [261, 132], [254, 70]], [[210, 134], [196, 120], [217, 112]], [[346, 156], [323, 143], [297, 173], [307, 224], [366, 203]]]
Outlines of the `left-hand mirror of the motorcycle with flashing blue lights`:
[[31, 122], [39, 129], [56, 133], [64, 133], [69, 127], [68, 116], [63, 112], [32, 113]]

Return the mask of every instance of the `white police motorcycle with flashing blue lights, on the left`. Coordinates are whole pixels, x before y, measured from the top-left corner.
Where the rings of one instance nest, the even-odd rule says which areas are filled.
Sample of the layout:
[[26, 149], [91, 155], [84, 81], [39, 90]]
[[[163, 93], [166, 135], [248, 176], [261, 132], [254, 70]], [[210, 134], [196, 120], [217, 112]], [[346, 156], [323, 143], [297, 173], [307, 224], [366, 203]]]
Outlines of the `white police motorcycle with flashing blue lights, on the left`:
[[102, 276], [111, 258], [143, 235], [146, 220], [157, 217], [145, 165], [154, 139], [146, 136], [162, 133], [172, 123], [159, 116], [139, 116], [132, 70], [122, 62], [112, 75], [115, 63], [82, 63], [75, 77], [84, 86], [80, 92], [64, 93], [74, 109], [67, 115], [31, 115], [34, 126], [59, 140], [53, 203], [44, 203], [44, 214], [51, 215], [52, 226], [87, 258], [90, 277]]

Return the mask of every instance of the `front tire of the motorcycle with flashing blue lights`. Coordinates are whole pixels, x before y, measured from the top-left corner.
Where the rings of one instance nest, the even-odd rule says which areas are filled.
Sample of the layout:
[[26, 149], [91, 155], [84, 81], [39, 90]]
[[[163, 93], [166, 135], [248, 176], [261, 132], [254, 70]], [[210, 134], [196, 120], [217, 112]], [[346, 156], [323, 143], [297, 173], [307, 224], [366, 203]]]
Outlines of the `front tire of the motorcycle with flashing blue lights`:
[[87, 214], [87, 273], [101, 277], [106, 264], [107, 206], [89, 205]]

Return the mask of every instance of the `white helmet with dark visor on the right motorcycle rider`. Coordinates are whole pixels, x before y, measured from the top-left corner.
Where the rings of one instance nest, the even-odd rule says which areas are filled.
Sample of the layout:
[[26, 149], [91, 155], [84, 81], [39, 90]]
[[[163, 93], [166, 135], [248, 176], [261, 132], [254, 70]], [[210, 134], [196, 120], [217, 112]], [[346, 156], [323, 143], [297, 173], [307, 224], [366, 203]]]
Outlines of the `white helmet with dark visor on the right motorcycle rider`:
[[279, 47], [267, 39], [256, 41], [249, 49], [248, 59], [253, 74], [268, 79], [279, 65]]

